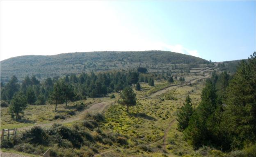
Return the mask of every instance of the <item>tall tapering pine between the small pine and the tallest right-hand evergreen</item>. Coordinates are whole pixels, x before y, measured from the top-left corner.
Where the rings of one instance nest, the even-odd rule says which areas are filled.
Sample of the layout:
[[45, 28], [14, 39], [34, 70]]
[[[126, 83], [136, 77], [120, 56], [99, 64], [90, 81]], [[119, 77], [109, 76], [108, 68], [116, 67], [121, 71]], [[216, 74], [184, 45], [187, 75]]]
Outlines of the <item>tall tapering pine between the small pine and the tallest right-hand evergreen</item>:
[[199, 148], [202, 145], [208, 145], [211, 141], [215, 142], [213, 136], [214, 115], [216, 111], [216, 93], [215, 86], [210, 80], [206, 80], [206, 85], [201, 93], [201, 102], [192, 114], [189, 125], [185, 129], [185, 138], [193, 146]]

